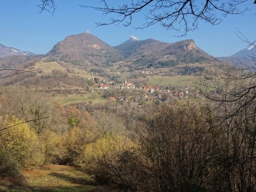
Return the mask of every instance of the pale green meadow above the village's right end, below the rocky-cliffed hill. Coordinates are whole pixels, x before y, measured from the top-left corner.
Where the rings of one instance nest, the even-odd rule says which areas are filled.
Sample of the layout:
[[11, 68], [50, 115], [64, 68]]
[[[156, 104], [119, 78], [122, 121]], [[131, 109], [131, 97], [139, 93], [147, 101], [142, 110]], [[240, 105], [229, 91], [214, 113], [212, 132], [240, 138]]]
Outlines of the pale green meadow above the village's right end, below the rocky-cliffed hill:
[[177, 75], [173, 77], [163, 77], [160, 75], [147, 76], [150, 85], [174, 85], [174, 86], [186, 86], [191, 85], [191, 75]]

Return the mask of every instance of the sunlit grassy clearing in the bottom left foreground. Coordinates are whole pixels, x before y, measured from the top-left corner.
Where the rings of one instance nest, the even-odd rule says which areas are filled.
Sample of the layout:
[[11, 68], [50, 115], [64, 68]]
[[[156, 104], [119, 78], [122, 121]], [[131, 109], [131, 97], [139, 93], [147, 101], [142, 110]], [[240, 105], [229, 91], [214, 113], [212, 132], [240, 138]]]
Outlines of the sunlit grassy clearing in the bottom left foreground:
[[82, 192], [94, 188], [95, 182], [88, 174], [63, 165], [44, 165], [38, 170], [22, 171], [27, 178], [26, 187], [0, 185], [0, 191], [11, 192]]

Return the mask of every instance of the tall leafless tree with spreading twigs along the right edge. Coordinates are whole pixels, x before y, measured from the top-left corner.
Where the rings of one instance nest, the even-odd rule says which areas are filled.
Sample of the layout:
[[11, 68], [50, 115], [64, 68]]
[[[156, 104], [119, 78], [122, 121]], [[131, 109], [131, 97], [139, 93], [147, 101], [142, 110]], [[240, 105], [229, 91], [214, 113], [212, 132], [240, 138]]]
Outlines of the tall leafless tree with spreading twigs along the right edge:
[[255, 71], [223, 64], [197, 78], [196, 86], [210, 101], [214, 123], [222, 132], [218, 162], [226, 191], [254, 191]]

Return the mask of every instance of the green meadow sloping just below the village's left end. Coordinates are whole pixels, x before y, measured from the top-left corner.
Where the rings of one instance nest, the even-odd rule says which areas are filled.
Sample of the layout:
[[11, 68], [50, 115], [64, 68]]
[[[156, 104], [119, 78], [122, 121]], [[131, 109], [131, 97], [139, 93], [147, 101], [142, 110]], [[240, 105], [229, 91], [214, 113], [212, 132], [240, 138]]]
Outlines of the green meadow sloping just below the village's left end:
[[86, 93], [86, 94], [72, 94], [65, 96], [56, 96], [54, 100], [59, 102], [62, 105], [71, 104], [71, 103], [80, 103], [80, 102], [89, 102], [92, 103], [104, 103], [106, 102], [106, 98], [101, 94], [97, 94], [94, 92]]

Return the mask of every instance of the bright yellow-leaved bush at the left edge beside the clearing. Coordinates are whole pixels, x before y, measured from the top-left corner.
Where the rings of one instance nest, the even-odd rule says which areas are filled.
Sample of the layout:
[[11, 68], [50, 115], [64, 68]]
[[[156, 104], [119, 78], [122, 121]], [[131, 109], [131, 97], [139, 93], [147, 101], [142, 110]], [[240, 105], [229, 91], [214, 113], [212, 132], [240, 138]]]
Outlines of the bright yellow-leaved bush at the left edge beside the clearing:
[[[12, 126], [20, 124], [23, 120], [6, 116], [5, 124]], [[11, 154], [23, 166], [36, 166], [44, 161], [43, 147], [40, 146], [36, 132], [27, 123], [13, 126], [1, 132], [0, 146]]]

